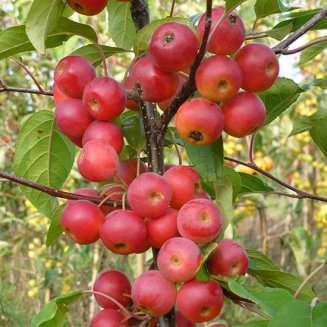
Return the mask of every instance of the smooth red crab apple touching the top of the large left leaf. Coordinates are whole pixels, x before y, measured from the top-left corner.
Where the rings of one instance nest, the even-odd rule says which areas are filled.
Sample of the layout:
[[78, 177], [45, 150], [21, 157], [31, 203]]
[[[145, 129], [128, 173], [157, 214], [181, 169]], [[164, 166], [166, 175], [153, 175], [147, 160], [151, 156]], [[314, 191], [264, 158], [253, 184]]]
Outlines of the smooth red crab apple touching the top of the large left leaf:
[[61, 101], [56, 106], [55, 120], [63, 134], [75, 139], [82, 137], [93, 118], [83, 105], [82, 100], [68, 99]]

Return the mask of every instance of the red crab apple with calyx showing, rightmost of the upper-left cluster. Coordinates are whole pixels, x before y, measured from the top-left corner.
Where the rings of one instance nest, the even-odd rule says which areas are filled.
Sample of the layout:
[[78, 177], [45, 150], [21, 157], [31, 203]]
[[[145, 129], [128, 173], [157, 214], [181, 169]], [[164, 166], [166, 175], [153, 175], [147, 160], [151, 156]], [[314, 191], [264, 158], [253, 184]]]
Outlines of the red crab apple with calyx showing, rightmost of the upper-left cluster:
[[97, 77], [85, 85], [83, 103], [91, 116], [98, 120], [113, 120], [125, 109], [126, 92], [110, 77]]

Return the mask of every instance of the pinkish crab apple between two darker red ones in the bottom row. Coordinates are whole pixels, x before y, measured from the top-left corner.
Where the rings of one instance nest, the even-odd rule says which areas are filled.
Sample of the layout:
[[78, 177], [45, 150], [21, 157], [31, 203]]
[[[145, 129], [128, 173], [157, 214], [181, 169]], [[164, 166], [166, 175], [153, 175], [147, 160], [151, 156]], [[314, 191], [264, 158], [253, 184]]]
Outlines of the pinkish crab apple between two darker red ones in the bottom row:
[[142, 311], [153, 317], [168, 313], [176, 299], [175, 284], [158, 270], [138, 276], [132, 285], [132, 300]]

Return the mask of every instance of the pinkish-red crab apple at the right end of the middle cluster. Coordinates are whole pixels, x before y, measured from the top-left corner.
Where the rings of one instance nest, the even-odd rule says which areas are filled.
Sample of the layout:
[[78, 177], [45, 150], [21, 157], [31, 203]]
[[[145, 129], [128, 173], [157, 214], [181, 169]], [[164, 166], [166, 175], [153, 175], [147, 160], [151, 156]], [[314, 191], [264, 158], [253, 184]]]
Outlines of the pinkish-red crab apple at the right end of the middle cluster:
[[212, 241], [219, 234], [221, 226], [220, 211], [210, 200], [191, 200], [178, 211], [178, 232], [195, 243]]

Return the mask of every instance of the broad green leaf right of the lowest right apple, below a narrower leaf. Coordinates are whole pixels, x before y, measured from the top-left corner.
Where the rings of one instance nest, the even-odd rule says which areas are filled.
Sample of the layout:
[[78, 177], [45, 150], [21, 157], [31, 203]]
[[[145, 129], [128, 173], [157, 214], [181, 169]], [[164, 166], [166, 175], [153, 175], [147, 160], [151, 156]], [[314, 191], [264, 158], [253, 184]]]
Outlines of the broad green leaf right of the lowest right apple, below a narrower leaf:
[[293, 301], [293, 296], [284, 289], [263, 287], [258, 283], [241, 285], [233, 279], [228, 279], [228, 286], [234, 294], [256, 303], [270, 317], [274, 316], [284, 304]]

